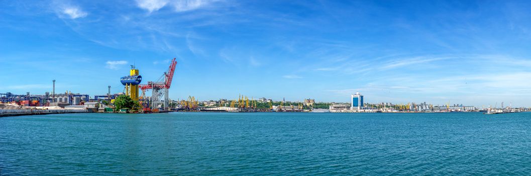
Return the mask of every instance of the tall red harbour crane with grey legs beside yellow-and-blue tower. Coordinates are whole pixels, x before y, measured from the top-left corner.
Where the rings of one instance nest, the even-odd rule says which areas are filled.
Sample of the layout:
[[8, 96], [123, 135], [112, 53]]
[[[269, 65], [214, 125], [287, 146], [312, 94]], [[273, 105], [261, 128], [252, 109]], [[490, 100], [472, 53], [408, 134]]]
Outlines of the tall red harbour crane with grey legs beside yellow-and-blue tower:
[[[164, 74], [162, 74], [157, 81], [148, 81], [148, 84], [146, 85], [139, 85], [139, 88], [142, 90], [142, 97], [145, 95], [145, 90], [151, 89], [151, 97], [149, 98], [149, 102], [151, 104], [152, 110], [158, 108], [159, 104], [164, 104], [165, 111], [169, 110], [168, 89], [170, 86], [172, 86], [173, 73], [175, 72], [176, 65], [177, 61], [175, 61], [175, 58], [173, 58], [172, 62], [169, 64], [168, 71], [164, 72]], [[164, 100], [162, 100], [162, 96], [164, 96]]]

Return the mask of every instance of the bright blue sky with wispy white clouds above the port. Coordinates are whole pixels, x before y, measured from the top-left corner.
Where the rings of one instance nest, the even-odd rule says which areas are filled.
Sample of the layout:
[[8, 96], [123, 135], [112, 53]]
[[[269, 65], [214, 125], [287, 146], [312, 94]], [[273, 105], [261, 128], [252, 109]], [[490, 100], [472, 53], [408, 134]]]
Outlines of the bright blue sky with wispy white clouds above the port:
[[0, 2], [0, 92], [531, 106], [526, 1]]

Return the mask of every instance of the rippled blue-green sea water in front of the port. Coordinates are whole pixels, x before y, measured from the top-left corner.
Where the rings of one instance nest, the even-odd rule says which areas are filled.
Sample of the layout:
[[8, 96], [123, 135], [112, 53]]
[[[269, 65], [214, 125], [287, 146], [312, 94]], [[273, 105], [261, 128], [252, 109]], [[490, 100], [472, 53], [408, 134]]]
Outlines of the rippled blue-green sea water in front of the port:
[[531, 175], [531, 113], [0, 118], [0, 175]]

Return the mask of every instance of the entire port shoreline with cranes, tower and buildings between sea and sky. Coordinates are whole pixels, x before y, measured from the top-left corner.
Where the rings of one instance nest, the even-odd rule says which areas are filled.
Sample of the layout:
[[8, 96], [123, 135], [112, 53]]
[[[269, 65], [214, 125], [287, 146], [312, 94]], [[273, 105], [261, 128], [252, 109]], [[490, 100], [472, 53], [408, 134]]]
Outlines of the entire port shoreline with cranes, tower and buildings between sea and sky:
[[[273, 101], [267, 98], [254, 99], [244, 95], [238, 98], [199, 101], [194, 96], [189, 96], [183, 100], [170, 100], [169, 89], [172, 86], [173, 75], [177, 62], [175, 58], [170, 62], [168, 70], [155, 81], [147, 81], [142, 84], [140, 71], [131, 65], [131, 70], [127, 76], [121, 77], [120, 82], [124, 86], [123, 92], [111, 93], [110, 86], [106, 95], [94, 95], [72, 93], [56, 93], [55, 82], [52, 80], [52, 93], [46, 92], [41, 95], [24, 95], [12, 93], [0, 93], [0, 116], [8, 115], [28, 115], [47, 113], [80, 113], [80, 112], [100, 112], [100, 113], [160, 113], [172, 111], [184, 112], [333, 112], [333, 113], [379, 113], [379, 112], [486, 112], [485, 114], [499, 114], [511, 112], [528, 112], [530, 108], [512, 108], [511, 106], [501, 108], [476, 108], [475, 106], [463, 106], [462, 104], [432, 105], [423, 103], [376, 103], [364, 102], [364, 96], [360, 93], [350, 95], [348, 103], [335, 102], [315, 102], [315, 99], [304, 99], [301, 102]], [[147, 96], [146, 91], [151, 91]], [[128, 108], [118, 108], [115, 100], [120, 96], [129, 97], [138, 106]], [[496, 103], [497, 105], [497, 103]]]

